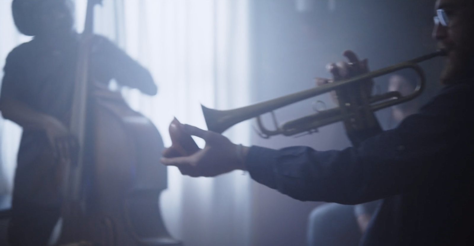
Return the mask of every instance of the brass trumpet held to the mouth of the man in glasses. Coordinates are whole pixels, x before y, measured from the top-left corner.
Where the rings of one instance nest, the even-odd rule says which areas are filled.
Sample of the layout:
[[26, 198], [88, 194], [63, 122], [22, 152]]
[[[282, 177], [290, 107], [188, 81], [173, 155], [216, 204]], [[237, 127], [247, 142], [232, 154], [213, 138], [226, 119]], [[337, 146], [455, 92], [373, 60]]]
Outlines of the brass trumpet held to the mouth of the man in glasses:
[[[425, 74], [423, 70], [417, 63], [420, 63], [420, 62], [423, 62], [428, 59], [441, 56], [441, 55], [445, 55], [445, 53], [443, 51], [438, 51], [432, 54], [423, 55], [418, 58], [409, 60], [407, 62], [402, 62], [402, 63], [395, 64], [389, 67], [375, 70], [373, 72], [361, 74], [350, 79], [328, 83], [316, 88], [311, 88], [305, 91], [292, 93], [290, 95], [286, 95], [286, 96], [276, 98], [273, 100], [263, 101], [263, 102], [256, 103], [256, 104], [246, 106], [246, 107], [242, 107], [239, 109], [221, 111], [221, 110], [208, 109], [202, 105], [201, 107], [202, 107], [202, 111], [203, 111], [208, 129], [217, 133], [222, 133], [228, 128], [232, 127], [233, 125], [239, 122], [242, 122], [244, 120], [255, 118], [264, 113], [268, 113], [275, 109], [282, 108], [283, 106], [287, 106], [301, 100], [306, 100], [311, 97], [314, 97], [323, 93], [327, 93], [329, 91], [340, 90], [341, 88], [345, 88], [346, 86], [354, 84], [356, 82], [374, 79], [376, 77], [393, 73], [402, 69], [412, 69], [419, 75], [420, 80], [419, 80], [418, 86], [415, 89], [415, 91], [413, 91], [410, 95], [401, 97], [399, 94], [395, 96], [394, 93], [389, 92], [387, 96], [383, 96], [383, 97], [374, 96], [374, 97], [369, 98], [370, 103], [375, 103], [374, 105], [370, 105], [371, 110], [375, 111], [375, 110], [383, 109], [383, 108], [390, 107], [396, 104], [400, 104], [400, 103], [403, 103], [403, 102], [406, 102], [418, 97], [423, 91], [423, 89], [425, 88], [426, 78], [425, 78]], [[392, 99], [392, 98], [395, 98], [395, 99]], [[338, 110], [340, 111], [340, 109]], [[349, 114], [351, 114], [351, 112], [349, 112]], [[277, 127], [276, 130], [271, 131], [271, 130], [264, 129], [263, 124], [261, 124], [261, 121], [259, 121], [259, 127], [261, 127], [261, 130], [262, 132], [264, 132], [264, 135], [267, 135], [267, 136], [273, 136], [273, 135], [279, 135], [279, 134], [290, 136], [290, 135], [293, 135], [294, 132], [303, 132], [304, 129], [307, 129], [310, 127], [311, 127], [310, 129], [316, 129], [318, 126], [321, 126], [322, 123], [324, 125], [327, 125], [327, 124], [331, 124], [339, 120], [342, 120], [341, 117], [322, 118], [322, 116], [319, 116], [318, 117], [320, 121], [319, 123], [306, 122], [306, 121], [314, 121], [314, 117], [315, 116], [308, 116], [308, 117], [297, 119], [296, 121], [290, 121], [292, 123], [287, 122], [286, 126], [290, 126], [294, 122], [301, 123], [302, 126], [307, 126], [307, 127], [302, 127], [299, 130], [288, 130], [288, 132], [285, 132], [285, 124], [283, 124], [283, 127]], [[327, 122], [330, 122], [330, 123], [327, 123]], [[292, 129], [294, 128], [292, 127]]]

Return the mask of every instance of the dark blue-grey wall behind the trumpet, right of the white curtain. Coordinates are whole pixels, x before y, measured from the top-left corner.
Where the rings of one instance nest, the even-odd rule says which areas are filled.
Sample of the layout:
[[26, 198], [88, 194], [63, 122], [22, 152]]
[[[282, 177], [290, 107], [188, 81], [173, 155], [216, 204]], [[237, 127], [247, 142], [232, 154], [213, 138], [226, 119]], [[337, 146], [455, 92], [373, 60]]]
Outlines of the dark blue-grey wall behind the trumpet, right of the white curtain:
[[[313, 0], [309, 12], [298, 12], [294, 0], [252, 2], [253, 100], [261, 101], [314, 86], [315, 77], [328, 77], [328, 62], [342, 60], [342, 52], [352, 49], [368, 58], [372, 70], [433, 52], [431, 40], [434, 0], [336, 0], [328, 9], [327, 0]], [[438, 89], [439, 60], [422, 64], [429, 86], [424, 100]], [[386, 77], [376, 81], [381, 90]], [[276, 111], [281, 122], [313, 113], [311, 102], [327, 95]], [[383, 123], [387, 113], [379, 112]], [[266, 123], [271, 127], [269, 118]], [[293, 145], [318, 150], [349, 146], [340, 123], [304, 137], [253, 137], [255, 145], [281, 148]], [[253, 246], [303, 246], [307, 216], [318, 202], [301, 202], [260, 184], [253, 185]]]

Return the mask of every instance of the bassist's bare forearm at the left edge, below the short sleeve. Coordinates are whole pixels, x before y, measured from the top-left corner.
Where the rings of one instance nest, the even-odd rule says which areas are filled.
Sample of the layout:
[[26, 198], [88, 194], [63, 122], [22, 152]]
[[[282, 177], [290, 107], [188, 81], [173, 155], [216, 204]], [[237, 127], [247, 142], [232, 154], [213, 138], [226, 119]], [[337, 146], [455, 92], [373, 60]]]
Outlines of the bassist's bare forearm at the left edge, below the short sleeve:
[[31, 109], [23, 102], [9, 98], [0, 100], [0, 110], [3, 118], [17, 123], [24, 129], [45, 129], [46, 122], [52, 118], [49, 115]]

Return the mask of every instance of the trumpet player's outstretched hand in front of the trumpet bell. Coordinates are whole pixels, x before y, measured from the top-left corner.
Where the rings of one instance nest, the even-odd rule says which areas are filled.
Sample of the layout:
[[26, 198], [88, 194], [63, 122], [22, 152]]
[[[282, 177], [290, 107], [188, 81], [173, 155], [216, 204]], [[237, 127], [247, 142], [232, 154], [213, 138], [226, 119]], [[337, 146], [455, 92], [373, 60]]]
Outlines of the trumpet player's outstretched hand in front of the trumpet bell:
[[[214, 177], [234, 170], [246, 170], [245, 157], [248, 147], [233, 144], [227, 137], [212, 131], [206, 131], [191, 125], [183, 125], [179, 121], [172, 122], [170, 135], [175, 140], [173, 146], [163, 151], [161, 162], [167, 166], [176, 166], [183, 175], [191, 177]], [[203, 149], [195, 151], [178, 151], [185, 143], [180, 143], [184, 137], [196, 136], [204, 139]], [[181, 140], [180, 140], [181, 139]]]

